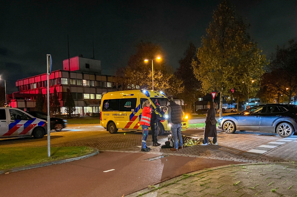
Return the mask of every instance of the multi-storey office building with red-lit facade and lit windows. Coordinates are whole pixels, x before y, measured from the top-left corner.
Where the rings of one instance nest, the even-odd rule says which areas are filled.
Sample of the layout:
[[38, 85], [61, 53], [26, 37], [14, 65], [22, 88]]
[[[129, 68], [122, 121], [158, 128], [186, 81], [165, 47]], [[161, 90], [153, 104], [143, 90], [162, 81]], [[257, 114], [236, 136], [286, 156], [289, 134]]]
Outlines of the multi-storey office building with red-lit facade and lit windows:
[[[70, 67], [67, 59], [63, 61], [63, 68], [64, 70], [52, 71], [49, 75], [50, 94], [53, 94], [56, 89], [62, 114], [65, 113], [64, 103], [66, 102], [67, 89], [70, 90], [74, 98], [75, 113], [81, 116], [99, 113], [102, 93], [117, 91], [115, 77], [101, 74], [100, 60], [72, 57], [70, 58]], [[39, 91], [46, 95], [46, 81], [46, 73], [16, 81], [15, 86], [18, 88], [18, 92], [12, 94], [10, 105], [23, 110], [34, 110], [32, 106], [35, 107]], [[18, 100], [22, 95], [23, 100]]]

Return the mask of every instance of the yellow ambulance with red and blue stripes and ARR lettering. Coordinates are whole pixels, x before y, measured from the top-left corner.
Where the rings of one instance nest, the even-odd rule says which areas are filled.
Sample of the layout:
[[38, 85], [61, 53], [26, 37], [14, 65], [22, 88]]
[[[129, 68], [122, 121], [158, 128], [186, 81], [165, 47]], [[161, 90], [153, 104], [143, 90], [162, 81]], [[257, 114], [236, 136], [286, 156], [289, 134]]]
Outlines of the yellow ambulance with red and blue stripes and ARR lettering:
[[[167, 106], [169, 99], [163, 92], [153, 90], [127, 90], [108, 92], [101, 100], [100, 124], [110, 133], [118, 129], [141, 131], [139, 124], [142, 114], [142, 103], [151, 102], [152, 108]], [[167, 112], [165, 117], [168, 117]], [[159, 135], [170, 131], [167, 119], [159, 124]], [[181, 131], [189, 128], [188, 116], [184, 114]]]

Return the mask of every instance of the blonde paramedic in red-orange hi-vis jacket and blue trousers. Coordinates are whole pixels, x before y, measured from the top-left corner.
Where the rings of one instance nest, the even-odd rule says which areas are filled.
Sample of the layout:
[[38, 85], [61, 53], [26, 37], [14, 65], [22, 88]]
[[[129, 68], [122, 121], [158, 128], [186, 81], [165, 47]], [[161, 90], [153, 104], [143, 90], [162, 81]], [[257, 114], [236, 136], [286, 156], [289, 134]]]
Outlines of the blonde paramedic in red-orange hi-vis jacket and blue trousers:
[[151, 102], [148, 100], [143, 102], [142, 104], [142, 115], [140, 119], [140, 126], [142, 128], [142, 144], [141, 144], [141, 151], [149, 152], [151, 148], [146, 147], [146, 138], [149, 134], [149, 126], [151, 124]]

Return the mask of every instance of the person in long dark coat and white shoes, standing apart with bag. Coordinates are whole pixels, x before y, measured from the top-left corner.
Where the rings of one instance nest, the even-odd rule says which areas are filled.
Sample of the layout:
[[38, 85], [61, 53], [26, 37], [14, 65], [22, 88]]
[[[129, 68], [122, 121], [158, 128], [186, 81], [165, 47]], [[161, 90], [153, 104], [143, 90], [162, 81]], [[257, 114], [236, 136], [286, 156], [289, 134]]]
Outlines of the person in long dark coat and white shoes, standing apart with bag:
[[207, 103], [207, 112], [205, 118], [205, 129], [204, 129], [204, 141], [201, 145], [208, 145], [208, 137], [213, 137], [212, 144], [218, 145], [217, 143], [217, 125], [212, 125], [211, 120], [216, 118], [216, 110], [214, 107], [216, 103], [208, 102]]

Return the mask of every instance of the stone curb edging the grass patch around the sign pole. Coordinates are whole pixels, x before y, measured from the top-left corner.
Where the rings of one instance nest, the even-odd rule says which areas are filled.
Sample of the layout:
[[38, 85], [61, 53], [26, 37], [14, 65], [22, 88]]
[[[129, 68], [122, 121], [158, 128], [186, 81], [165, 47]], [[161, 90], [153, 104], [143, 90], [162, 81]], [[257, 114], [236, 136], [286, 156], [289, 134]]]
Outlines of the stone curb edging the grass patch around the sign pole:
[[44, 166], [50, 166], [53, 164], [63, 164], [63, 163], [70, 162], [70, 161], [85, 159], [85, 158], [88, 158], [88, 157], [91, 157], [91, 156], [94, 156], [97, 154], [99, 154], [99, 150], [97, 148], [93, 148], [93, 151], [91, 153], [84, 155], [84, 156], [74, 157], [74, 158], [69, 158], [69, 159], [62, 159], [62, 160], [58, 160], [58, 161], [50, 161], [50, 162], [45, 162], [45, 163], [41, 163], [41, 164], [33, 164], [33, 165], [18, 167], [18, 168], [5, 169], [5, 170], [1, 170], [0, 174], [4, 174], [7, 172], [18, 172], [21, 170], [28, 170], [28, 169], [33, 169], [33, 168], [40, 168], [40, 167], [44, 167]]

